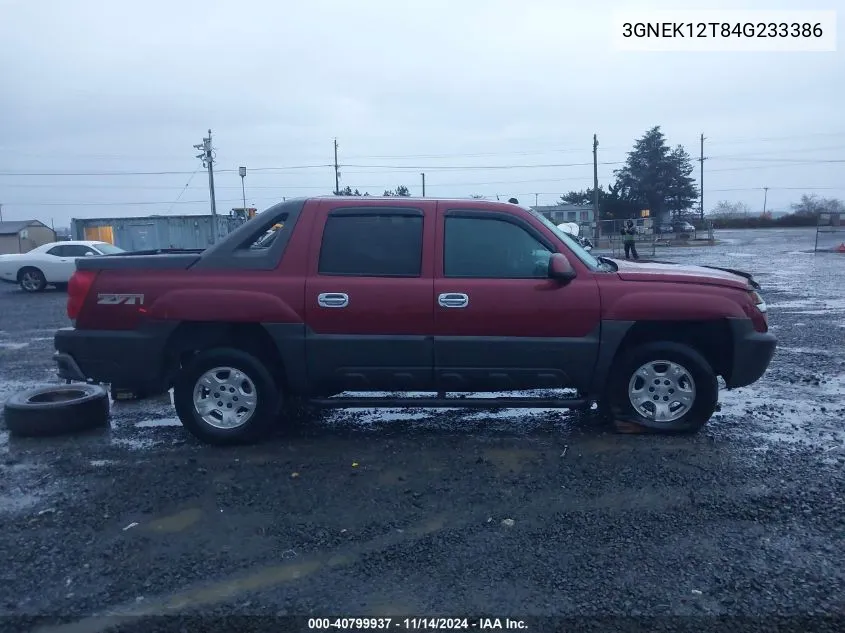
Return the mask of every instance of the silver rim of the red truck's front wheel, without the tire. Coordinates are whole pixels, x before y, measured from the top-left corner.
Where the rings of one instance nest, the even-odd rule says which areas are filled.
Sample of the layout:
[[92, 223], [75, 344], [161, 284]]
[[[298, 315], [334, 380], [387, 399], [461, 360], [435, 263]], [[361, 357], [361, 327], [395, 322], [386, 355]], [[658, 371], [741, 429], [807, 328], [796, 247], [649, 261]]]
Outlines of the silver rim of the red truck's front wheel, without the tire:
[[678, 363], [653, 360], [642, 365], [628, 382], [634, 410], [655, 422], [674, 422], [695, 404], [695, 381]]

